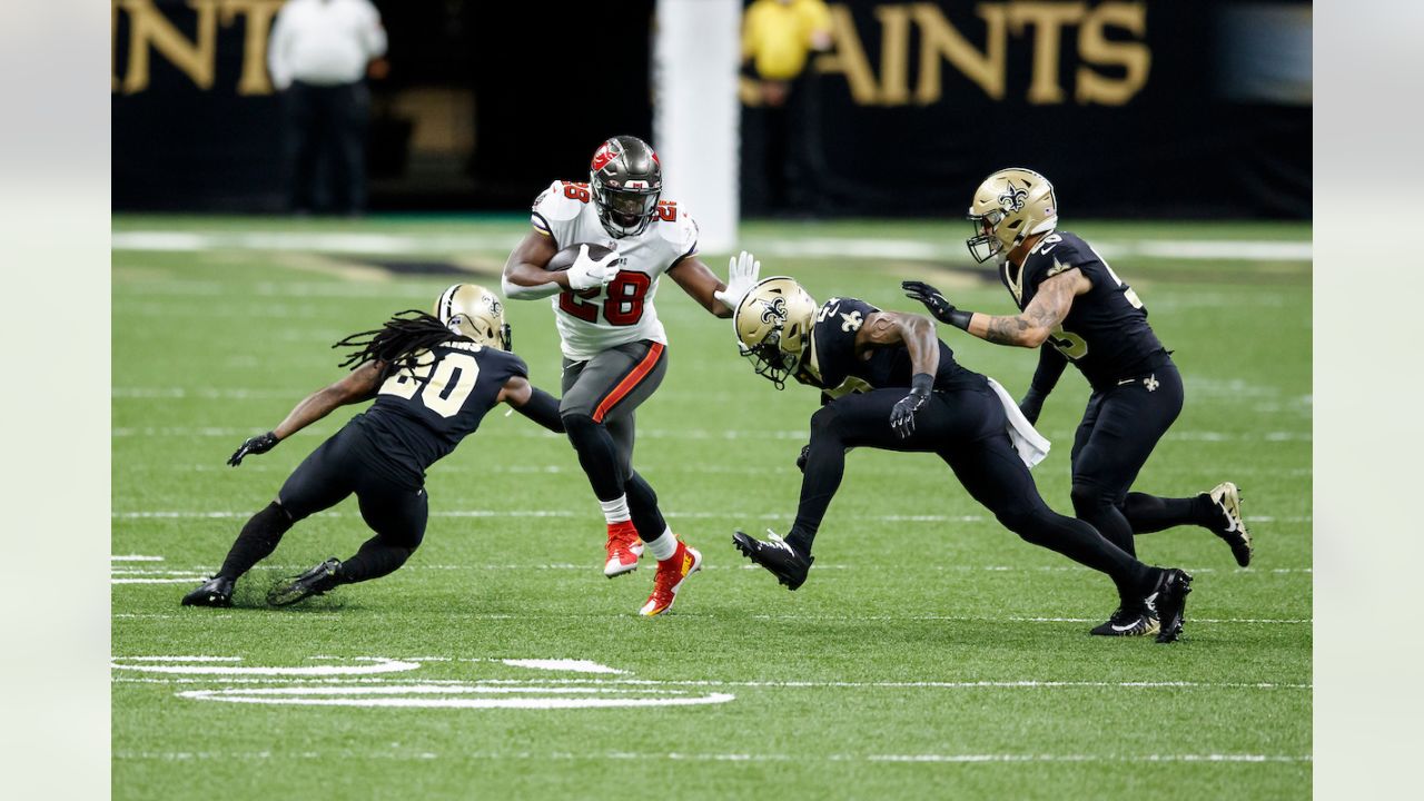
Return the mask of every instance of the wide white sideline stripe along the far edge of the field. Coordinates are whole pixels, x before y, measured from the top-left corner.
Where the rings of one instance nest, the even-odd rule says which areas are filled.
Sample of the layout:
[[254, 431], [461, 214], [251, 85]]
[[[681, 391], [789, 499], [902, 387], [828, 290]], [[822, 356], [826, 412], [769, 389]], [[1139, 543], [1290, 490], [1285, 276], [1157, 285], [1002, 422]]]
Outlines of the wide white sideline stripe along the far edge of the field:
[[[520, 234], [521, 235], [521, 234]], [[315, 231], [115, 231], [115, 251], [320, 251], [333, 254], [451, 254], [510, 251], [520, 235], [375, 234]], [[762, 257], [943, 259], [951, 245], [873, 237], [758, 238], [743, 245]], [[1101, 239], [1106, 258], [1143, 255], [1192, 261], [1312, 261], [1310, 242], [1272, 239]]]

